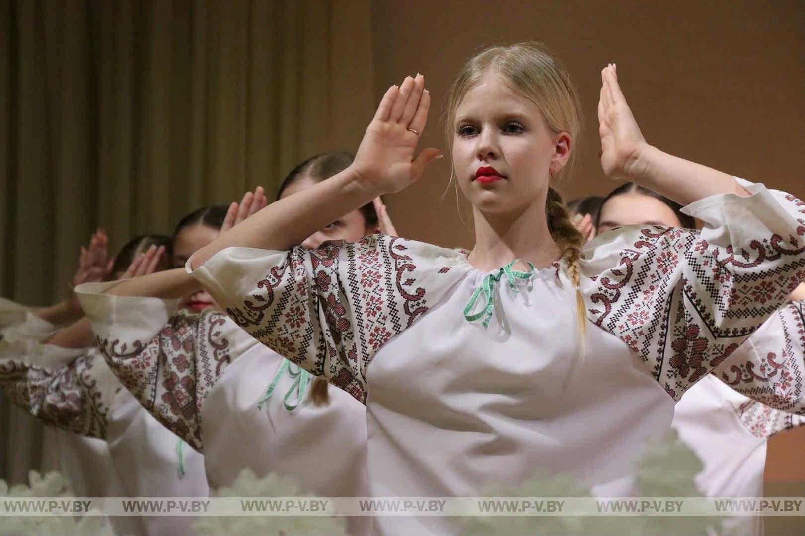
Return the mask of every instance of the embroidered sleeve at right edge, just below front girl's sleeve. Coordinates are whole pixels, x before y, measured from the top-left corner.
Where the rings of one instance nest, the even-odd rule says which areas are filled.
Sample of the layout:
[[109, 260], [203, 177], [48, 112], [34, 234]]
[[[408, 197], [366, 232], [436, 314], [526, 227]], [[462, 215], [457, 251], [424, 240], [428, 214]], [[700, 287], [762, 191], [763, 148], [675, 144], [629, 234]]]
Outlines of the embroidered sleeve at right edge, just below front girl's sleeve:
[[805, 300], [775, 311], [714, 372], [749, 398], [786, 412], [805, 414]]

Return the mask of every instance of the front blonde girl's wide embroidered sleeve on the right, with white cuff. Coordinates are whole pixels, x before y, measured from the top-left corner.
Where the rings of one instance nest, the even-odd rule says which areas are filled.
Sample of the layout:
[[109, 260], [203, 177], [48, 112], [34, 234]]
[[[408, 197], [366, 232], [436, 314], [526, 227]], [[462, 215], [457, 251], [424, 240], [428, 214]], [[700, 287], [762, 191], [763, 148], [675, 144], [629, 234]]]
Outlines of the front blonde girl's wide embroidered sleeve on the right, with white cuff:
[[676, 400], [805, 278], [805, 204], [761, 184], [748, 189], [687, 207], [704, 221], [701, 233], [628, 227], [582, 252], [589, 318], [642, 357]]

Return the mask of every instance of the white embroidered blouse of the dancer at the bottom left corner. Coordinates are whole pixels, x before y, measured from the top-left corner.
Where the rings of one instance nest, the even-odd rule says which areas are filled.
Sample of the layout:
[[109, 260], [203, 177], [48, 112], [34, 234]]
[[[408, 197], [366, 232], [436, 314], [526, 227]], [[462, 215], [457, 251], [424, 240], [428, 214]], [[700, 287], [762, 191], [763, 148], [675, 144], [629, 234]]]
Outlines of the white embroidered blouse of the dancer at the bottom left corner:
[[[68, 428], [56, 438], [59, 447], [73, 450], [60, 452], [56, 460], [77, 494], [208, 497], [203, 456], [185, 445], [185, 474], [180, 474], [180, 439], [122, 389], [96, 348], [42, 344], [41, 337], [24, 337], [25, 331], [10, 328], [0, 341], [0, 382], [18, 406], [44, 423]], [[112, 517], [120, 534], [190, 535], [192, 521], [181, 516]]]

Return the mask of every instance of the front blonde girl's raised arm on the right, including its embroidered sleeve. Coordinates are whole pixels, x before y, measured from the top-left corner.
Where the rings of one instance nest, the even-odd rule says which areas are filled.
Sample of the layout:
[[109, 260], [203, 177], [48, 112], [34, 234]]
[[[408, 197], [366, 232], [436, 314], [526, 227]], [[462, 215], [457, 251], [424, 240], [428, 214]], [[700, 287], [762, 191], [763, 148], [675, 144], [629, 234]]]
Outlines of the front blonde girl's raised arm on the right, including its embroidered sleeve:
[[[613, 66], [603, 80], [605, 171], [680, 202], [692, 200], [684, 211], [704, 227], [627, 226], [601, 235], [582, 250], [582, 291], [589, 318], [629, 345], [679, 399], [713, 369], [722, 372], [805, 278], [805, 203], [648, 148]], [[791, 370], [799, 371], [801, 361]], [[758, 371], [773, 364], [760, 357], [748, 362], [736, 384], [742, 393], [774, 408], [802, 411], [803, 386], [791, 384], [786, 399], [774, 398], [780, 394], [776, 387], [756, 385]]]

